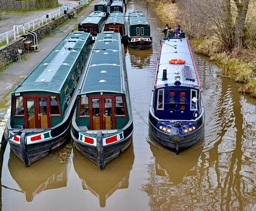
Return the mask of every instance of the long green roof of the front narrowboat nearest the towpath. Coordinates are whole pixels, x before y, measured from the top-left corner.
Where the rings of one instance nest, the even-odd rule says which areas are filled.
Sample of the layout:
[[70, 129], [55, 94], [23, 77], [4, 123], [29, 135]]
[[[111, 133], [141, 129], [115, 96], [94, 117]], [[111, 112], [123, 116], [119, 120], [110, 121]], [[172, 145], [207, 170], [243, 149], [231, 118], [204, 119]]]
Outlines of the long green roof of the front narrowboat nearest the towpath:
[[39, 65], [14, 89], [13, 93], [25, 91], [48, 91], [60, 93], [84, 42], [90, 36], [86, 32], [69, 33], [39, 63]]

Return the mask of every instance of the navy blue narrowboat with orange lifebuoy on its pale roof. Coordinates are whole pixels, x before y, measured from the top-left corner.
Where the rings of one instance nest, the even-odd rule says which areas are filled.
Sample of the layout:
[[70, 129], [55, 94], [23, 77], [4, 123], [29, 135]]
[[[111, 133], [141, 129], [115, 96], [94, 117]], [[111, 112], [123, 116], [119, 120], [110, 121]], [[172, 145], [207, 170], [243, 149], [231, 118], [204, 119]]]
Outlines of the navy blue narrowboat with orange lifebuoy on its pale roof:
[[200, 79], [185, 38], [161, 41], [149, 126], [155, 140], [176, 153], [197, 143], [203, 133]]

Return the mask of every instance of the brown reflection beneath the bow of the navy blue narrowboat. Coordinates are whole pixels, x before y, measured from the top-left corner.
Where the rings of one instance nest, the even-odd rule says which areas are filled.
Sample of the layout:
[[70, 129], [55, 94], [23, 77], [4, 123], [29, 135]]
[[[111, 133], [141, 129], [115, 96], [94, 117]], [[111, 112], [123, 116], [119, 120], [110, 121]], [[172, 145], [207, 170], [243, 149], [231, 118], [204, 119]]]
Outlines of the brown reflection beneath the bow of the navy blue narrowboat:
[[203, 146], [192, 147], [190, 150], [176, 155], [158, 144], [153, 138], [148, 143], [155, 157], [157, 176], [169, 177], [171, 183], [180, 184], [184, 177], [197, 175], [198, 159]]

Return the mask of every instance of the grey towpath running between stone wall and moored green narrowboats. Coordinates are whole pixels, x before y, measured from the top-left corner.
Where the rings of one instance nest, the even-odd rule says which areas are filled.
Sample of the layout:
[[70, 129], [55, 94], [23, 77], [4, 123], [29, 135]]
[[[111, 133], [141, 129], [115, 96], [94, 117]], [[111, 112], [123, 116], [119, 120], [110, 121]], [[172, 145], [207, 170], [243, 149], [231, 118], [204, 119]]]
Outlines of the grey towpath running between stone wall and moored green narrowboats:
[[[84, 7], [84, 6], [79, 7], [78, 11], [80, 12], [77, 14], [77, 19], [73, 19], [67, 24], [62, 25], [60, 29], [64, 31], [66, 34], [71, 32], [74, 29], [77, 29], [78, 23], [81, 22], [88, 14], [90, 14], [91, 10], [94, 10], [95, 3], [97, 2], [91, 2], [89, 5], [87, 5], [87, 7]], [[61, 23], [59, 23], [59, 25], [60, 24]], [[42, 39], [38, 43], [40, 51], [25, 53], [24, 55], [26, 57], [25, 60], [11, 63], [7, 68], [5, 68], [0, 72], [0, 122], [1, 122], [0, 136], [1, 138], [5, 128], [5, 124], [6, 124], [6, 116], [8, 116], [7, 111], [11, 106], [12, 90], [40, 63], [40, 61], [44, 59], [44, 57], [49, 52], [51, 52], [51, 50], [57, 45], [57, 43], [59, 43], [59, 41], [64, 36], [65, 36], [64, 33], [55, 33], [55, 34], [52, 33], [49, 36], [42, 37]], [[8, 54], [7, 51], [5, 53]]]

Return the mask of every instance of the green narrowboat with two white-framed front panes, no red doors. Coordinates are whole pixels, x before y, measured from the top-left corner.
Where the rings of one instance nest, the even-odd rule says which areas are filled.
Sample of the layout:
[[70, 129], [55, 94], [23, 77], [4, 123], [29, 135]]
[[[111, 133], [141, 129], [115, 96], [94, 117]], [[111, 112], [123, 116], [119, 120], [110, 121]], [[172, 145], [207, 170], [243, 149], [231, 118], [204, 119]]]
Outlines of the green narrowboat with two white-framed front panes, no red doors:
[[143, 12], [129, 12], [127, 22], [128, 45], [132, 48], [145, 49], [152, 47], [150, 24]]

